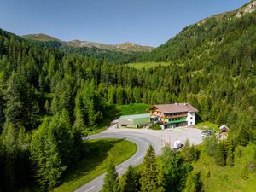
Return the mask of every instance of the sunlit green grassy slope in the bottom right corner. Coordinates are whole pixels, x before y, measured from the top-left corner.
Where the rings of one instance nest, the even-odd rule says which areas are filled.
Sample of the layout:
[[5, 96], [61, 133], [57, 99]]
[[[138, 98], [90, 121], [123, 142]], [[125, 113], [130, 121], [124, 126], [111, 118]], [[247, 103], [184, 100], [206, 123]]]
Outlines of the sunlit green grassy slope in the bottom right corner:
[[201, 182], [204, 191], [207, 192], [254, 192], [256, 189], [256, 172], [249, 171], [248, 180], [240, 177], [241, 168], [244, 164], [253, 160], [253, 148], [255, 144], [250, 143], [242, 149], [241, 158], [235, 153], [235, 166], [217, 166], [214, 160], [201, 153], [200, 159], [194, 165], [194, 172], [201, 172]]

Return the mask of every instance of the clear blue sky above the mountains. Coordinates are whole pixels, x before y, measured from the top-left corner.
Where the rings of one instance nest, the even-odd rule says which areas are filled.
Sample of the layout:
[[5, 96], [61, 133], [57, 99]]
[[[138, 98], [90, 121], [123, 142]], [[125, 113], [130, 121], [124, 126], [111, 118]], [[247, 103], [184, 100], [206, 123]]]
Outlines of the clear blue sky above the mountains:
[[249, 0], [1, 0], [0, 28], [61, 40], [159, 46], [183, 27]]

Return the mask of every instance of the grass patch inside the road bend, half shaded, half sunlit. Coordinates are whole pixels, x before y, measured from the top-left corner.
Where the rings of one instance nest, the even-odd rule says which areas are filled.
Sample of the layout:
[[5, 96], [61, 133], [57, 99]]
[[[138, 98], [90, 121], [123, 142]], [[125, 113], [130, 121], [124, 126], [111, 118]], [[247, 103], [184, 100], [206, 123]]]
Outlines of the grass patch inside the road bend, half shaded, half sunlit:
[[89, 149], [84, 160], [70, 167], [63, 175], [61, 185], [51, 192], [72, 192], [106, 172], [105, 167], [110, 158], [117, 166], [137, 151], [136, 144], [122, 139], [90, 140], [84, 146]]

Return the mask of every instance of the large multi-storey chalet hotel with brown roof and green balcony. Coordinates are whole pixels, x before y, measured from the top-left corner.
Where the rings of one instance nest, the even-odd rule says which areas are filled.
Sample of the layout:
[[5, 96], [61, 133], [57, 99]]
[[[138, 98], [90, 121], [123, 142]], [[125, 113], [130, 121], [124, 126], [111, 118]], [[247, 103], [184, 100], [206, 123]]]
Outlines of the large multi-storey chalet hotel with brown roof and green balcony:
[[196, 108], [189, 103], [153, 105], [149, 108], [150, 121], [162, 129], [195, 125]]

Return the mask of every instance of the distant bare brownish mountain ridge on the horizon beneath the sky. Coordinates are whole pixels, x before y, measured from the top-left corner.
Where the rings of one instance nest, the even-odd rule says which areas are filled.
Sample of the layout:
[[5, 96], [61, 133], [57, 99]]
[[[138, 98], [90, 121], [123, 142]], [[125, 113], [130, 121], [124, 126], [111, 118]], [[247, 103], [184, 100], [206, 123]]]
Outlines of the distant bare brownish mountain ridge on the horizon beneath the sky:
[[96, 49], [124, 51], [124, 52], [150, 52], [152, 49], [154, 49], [153, 47], [150, 47], [150, 46], [132, 44], [130, 42], [125, 42], [123, 44], [100, 44], [96, 42], [81, 41], [81, 40], [73, 40], [73, 41], [65, 42], [65, 41], [61, 41], [58, 38], [54, 38], [43, 33], [28, 34], [22, 37], [26, 39], [46, 41], [46, 42], [57, 41], [57, 42], [61, 42], [63, 46], [69, 46], [73, 48], [96, 48]]

